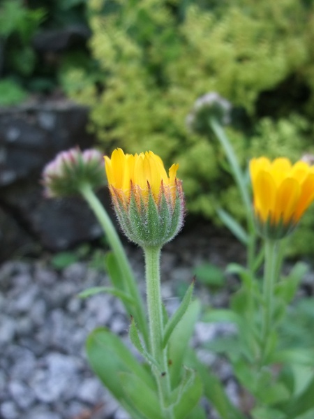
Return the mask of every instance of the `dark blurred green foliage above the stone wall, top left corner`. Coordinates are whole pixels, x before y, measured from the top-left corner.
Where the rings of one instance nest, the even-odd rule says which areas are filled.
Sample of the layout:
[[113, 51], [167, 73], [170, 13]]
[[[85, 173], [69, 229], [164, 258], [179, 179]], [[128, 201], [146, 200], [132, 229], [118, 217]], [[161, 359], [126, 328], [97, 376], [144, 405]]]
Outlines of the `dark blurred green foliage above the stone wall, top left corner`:
[[[3, 0], [0, 2], [0, 105], [17, 105], [31, 94], [52, 94], [68, 66], [94, 66], [84, 41], [64, 50], [70, 29], [88, 33], [87, 0]], [[68, 33], [66, 32], [68, 31]], [[41, 36], [54, 32], [47, 50], [38, 50]], [[45, 38], [47, 39], [47, 37]], [[45, 41], [43, 41], [45, 43]], [[43, 45], [42, 43], [42, 45]]]

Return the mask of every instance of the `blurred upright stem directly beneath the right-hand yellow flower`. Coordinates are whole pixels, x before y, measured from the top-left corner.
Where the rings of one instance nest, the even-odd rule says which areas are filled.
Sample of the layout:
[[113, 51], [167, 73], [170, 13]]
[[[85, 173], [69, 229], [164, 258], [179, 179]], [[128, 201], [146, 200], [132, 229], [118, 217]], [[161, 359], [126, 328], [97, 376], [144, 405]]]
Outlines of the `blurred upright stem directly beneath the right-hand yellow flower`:
[[274, 286], [278, 272], [278, 241], [265, 241], [265, 265], [263, 281], [263, 318], [262, 318], [262, 362], [267, 356], [271, 323], [274, 315]]

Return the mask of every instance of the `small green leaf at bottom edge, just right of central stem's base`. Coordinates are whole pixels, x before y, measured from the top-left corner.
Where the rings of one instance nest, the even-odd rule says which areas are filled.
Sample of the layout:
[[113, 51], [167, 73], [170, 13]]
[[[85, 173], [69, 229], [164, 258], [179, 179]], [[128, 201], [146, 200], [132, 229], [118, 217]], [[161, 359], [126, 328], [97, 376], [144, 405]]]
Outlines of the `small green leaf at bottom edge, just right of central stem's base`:
[[187, 418], [202, 396], [202, 381], [198, 374], [189, 369], [186, 375], [187, 378], [181, 388], [178, 402], [174, 404], [174, 416], [177, 419]]

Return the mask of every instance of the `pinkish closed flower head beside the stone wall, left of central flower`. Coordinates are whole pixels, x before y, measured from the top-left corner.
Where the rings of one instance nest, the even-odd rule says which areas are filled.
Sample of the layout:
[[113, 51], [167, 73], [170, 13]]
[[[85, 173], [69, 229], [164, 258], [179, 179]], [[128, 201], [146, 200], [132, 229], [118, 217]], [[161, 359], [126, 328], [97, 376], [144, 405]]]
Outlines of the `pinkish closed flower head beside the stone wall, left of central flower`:
[[47, 198], [75, 195], [82, 184], [98, 188], [105, 184], [103, 155], [96, 149], [82, 152], [78, 147], [60, 152], [45, 166], [42, 183]]

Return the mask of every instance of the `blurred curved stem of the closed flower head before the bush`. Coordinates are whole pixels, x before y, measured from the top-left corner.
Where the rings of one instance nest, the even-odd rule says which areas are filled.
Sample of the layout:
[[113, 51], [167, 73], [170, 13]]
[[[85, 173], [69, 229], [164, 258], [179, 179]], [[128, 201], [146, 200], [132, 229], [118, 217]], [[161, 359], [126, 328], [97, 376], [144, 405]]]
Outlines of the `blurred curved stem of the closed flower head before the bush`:
[[225, 131], [223, 127], [219, 124], [217, 119], [213, 117], [209, 119], [209, 125], [211, 126], [211, 129], [214, 131], [220, 144], [225, 150], [227, 160], [229, 161], [229, 164], [232, 170], [234, 181], [237, 184], [237, 187], [240, 191], [242, 202], [244, 203], [244, 207], [246, 208], [246, 219], [247, 219], [248, 232], [249, 232], [248, 249], [247, 249], [248, 269], [253, 274], [254, 265], [255, 265], [256, 232], [255, 232], [255, 226], [254, 226], [254, 220], [253, 220], [253, 211], [252, 211], [250, 194], [248, 193], [248, 188], [246, 186], [244, 174], [239, 166], [237, 155], [235, 154], [234, 148], [232, 147], [231, 142], [227, 138], [227, 135], [225, 135]]

